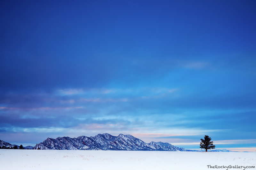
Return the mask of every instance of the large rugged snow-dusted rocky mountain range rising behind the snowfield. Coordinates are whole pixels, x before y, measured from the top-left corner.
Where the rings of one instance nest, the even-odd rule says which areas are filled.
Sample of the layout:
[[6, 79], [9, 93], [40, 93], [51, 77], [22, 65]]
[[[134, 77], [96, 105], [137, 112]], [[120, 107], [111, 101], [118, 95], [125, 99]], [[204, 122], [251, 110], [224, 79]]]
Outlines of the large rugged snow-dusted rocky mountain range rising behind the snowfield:
[[152, 141], [147, 144], [132, 135], [120, 134], [116, 137], [107, 133], [98, 134], [95, 137], [57, 137], [56, 139], [48, 137], [44, 142], [36, 144], [33, 149], [38, 148], [52, 150], [186, 151], [184, 148], [169, 143]]

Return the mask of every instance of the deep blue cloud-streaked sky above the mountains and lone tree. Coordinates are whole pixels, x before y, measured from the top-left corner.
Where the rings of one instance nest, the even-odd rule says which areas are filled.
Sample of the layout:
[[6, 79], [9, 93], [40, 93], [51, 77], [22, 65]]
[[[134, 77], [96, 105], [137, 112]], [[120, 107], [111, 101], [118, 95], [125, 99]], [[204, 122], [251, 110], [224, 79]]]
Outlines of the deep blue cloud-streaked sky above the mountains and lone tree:
[[256, 2], [1, 1], [0, 139], [130, 134], [256, 150]]

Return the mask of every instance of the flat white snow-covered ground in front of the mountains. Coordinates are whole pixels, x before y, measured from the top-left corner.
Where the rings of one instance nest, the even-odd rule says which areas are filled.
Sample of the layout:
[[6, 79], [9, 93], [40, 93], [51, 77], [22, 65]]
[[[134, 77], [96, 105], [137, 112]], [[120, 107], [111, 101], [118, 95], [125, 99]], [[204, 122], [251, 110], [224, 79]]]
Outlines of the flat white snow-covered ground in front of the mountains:
[[[255, 164], [256, 152], [74, 151], [0, 149], [1, 170], [203, 170], [213, 169], [210, 168], [210, 166], [208, 168], [207, 165], [256, 166]], [[222, 169], [224, 170], [227, 168]], [[256, 168], [244, 167], [240, 169], [256, 170]]]

